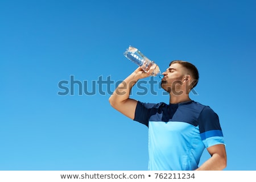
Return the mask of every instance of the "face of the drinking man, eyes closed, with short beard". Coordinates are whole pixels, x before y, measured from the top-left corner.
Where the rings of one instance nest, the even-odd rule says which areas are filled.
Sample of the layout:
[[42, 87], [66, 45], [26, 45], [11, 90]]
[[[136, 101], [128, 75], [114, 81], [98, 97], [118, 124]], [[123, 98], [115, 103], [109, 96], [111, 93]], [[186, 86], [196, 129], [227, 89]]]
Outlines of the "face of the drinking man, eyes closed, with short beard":
[[183, 84], [184, 71], [185, 68], [179, 63], [170, 65], [170, 67], [163, 72], [162, 88], [169, 93], [178, 91], [177, 89]]

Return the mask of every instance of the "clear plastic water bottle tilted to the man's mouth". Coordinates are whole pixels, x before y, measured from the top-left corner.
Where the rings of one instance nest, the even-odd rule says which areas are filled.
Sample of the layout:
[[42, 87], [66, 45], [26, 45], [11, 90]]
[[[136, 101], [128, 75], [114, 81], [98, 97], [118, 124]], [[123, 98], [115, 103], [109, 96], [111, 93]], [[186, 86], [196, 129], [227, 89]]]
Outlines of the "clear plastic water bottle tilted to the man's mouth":
[[141, 67], [144, 72], [148, 72], [152, 69], [151, 76], [158, 76], [160, 78], [164, 77], [158, 65], [144, 56], [137, 48], [130, 46], [126, 49], [123, 55]]

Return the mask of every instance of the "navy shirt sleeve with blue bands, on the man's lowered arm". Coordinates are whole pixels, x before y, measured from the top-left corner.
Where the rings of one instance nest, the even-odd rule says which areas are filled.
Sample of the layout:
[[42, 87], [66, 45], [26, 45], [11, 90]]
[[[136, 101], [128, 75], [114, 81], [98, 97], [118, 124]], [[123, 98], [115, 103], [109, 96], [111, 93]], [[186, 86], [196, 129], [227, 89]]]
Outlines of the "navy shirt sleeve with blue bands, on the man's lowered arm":
[[199, 115], [199, 131], [206, 148], [225, 144], [218, 115], [208, 106]]

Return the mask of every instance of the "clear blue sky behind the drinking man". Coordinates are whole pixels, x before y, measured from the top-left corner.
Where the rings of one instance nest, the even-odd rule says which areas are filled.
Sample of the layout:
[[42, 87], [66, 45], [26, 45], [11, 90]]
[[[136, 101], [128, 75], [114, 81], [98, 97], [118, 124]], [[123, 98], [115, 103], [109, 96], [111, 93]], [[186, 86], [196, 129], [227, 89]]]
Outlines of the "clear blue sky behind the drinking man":
[[[191, 98], [220, 117], [226, 170], [256, 170], [255, 7], [253, 0], [1, 1], [0, 169], [147, 170], [147, 127], [108, 102], [137, 68], [123, 56], [132, 45], [162, 71], [171, 60], [196, 65]], [[81, 95], [79, 84], [71, 94], [72, 78]], [[149, 80], [131, 97], [168, 103]], [[60, 81], [68, 83], [65, 96]]]

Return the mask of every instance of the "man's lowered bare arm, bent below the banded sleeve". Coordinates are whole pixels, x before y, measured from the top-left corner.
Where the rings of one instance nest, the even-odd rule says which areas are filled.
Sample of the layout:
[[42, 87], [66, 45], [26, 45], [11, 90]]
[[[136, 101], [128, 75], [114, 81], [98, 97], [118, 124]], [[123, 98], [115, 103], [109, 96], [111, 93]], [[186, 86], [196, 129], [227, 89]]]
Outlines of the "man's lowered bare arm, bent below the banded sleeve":
[[226, 149], [224, 144], [216, 144], [207, 148], [211, 158], [196, 171], [218, 171], [226, 167]]

